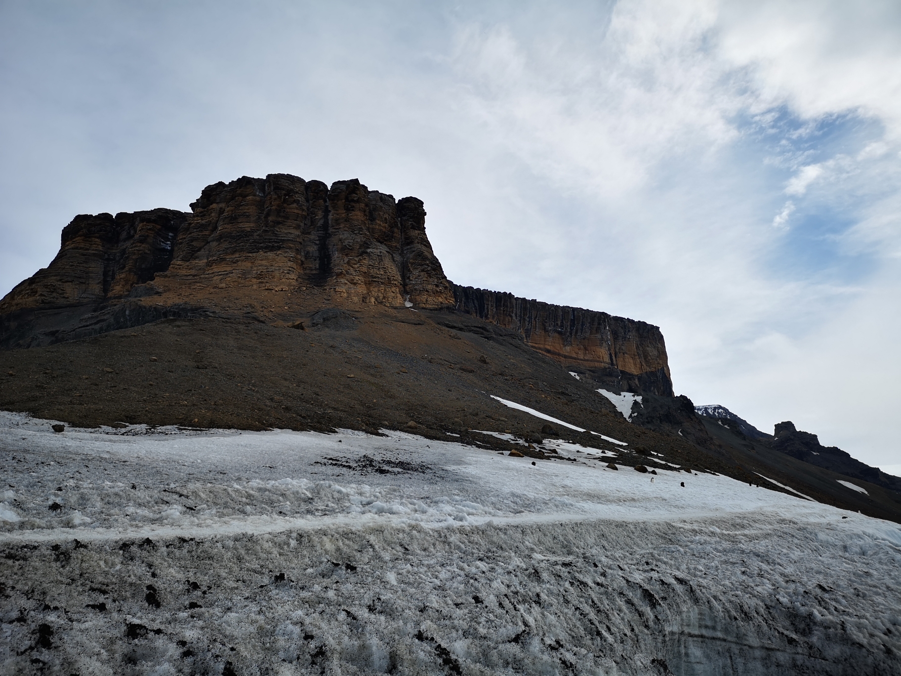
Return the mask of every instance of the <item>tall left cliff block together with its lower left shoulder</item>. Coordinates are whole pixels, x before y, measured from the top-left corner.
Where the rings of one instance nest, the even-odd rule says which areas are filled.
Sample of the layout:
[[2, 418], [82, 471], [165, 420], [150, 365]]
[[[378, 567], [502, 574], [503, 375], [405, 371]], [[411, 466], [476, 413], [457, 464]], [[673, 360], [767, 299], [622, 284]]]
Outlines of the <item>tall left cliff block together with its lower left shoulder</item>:
[[191, 209], [76, 216], [50, 266], [0, 301], [0, 346], [252, 311], [274, 290], [337, 306], [453, 305], [415, 197], [272, 174], [206, 187]]

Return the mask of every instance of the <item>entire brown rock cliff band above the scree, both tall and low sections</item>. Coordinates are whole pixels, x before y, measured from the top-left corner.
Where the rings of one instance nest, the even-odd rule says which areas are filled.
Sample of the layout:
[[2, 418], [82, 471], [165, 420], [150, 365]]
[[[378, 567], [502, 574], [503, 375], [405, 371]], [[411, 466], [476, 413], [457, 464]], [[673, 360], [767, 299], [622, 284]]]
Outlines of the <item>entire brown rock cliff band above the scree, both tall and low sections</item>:
[[0, 347], [82, 338], [165, 317], [300, 324], [323, 307], [455, 309], [602, 387], [672, 396], [651, 324], [452, 285], [415, 197], [287, 174], [205, 187], [191, 213], [78, 215], [57, 257], [0, 301]]

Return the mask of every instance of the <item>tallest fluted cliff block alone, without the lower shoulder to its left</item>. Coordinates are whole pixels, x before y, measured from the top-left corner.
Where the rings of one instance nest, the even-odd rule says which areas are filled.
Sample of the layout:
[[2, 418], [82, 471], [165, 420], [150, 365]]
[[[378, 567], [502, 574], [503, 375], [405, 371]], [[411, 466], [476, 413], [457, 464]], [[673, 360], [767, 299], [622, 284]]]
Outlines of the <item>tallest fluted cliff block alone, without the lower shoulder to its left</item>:
[[328, 288], [348, 303], [453, 303], [415, 197], [271, 174], [206, 187], [191, 208], [159, 288], [271, 283]]

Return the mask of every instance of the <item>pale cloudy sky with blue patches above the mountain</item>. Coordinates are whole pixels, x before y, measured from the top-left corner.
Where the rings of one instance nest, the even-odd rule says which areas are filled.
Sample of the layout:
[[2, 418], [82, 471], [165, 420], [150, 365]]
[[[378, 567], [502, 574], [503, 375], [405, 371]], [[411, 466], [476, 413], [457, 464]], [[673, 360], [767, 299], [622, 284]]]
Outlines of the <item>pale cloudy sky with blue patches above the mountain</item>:
[[897, 2], [0, 0], [0, 87], [0, 296], [77, 214], [359, 178], [454, 282], [901, 471]]

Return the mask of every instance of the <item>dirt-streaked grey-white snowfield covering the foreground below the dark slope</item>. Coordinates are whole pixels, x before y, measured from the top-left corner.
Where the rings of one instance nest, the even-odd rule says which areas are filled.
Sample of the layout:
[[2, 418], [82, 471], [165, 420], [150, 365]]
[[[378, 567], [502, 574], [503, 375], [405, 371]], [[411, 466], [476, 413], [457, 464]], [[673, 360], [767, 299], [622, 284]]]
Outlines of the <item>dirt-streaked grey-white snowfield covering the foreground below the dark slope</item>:
[[2, 670], [896, 672], [898, 525], [546, 443], [0, 414]]

